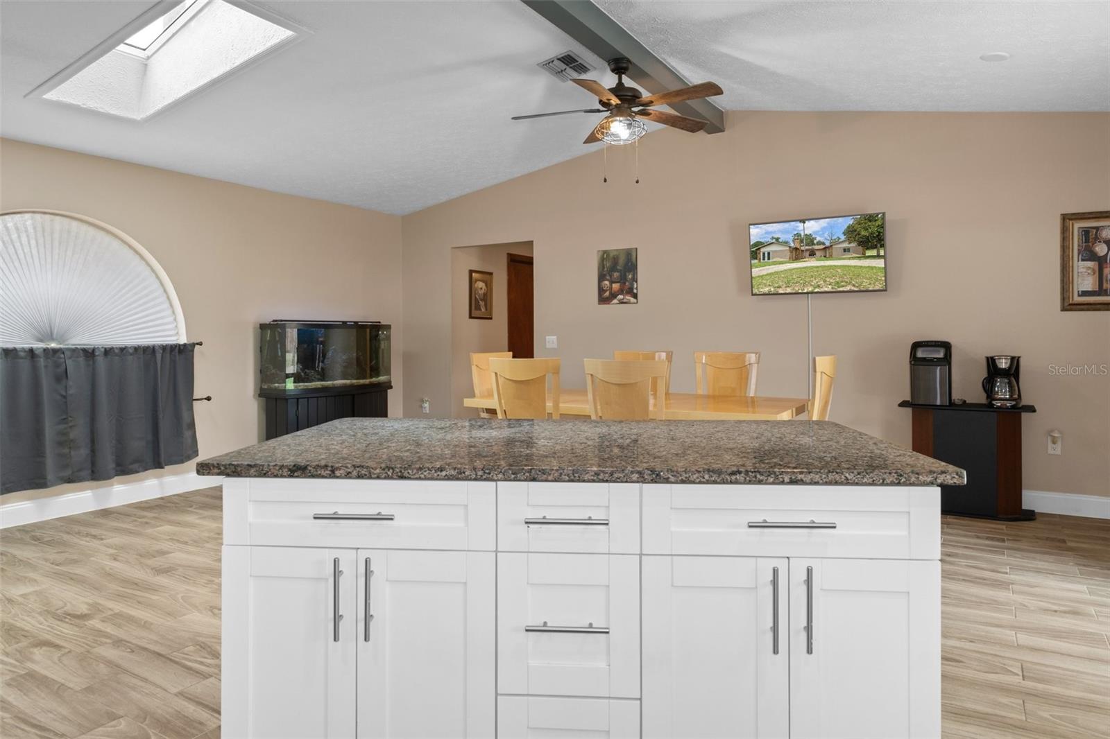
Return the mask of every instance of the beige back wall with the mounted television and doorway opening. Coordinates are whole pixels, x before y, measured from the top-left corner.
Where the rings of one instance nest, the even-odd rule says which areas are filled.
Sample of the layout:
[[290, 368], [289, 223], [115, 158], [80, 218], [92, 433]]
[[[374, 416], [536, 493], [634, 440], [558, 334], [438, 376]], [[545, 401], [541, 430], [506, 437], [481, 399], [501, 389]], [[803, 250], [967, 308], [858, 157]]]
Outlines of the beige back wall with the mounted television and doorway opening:
[[[748, 223], [886, 211], [886, 293], [815, 295], [814, 351], [839, 355], [831, 418], [905, 445], [909, 344], [955, 346], [955, 394], [981, 399], [983, 355], [1022, 355], [1027, 489], [1110, 495], [1110, 313], [1059, 310], [1060, 213], [1110, 207], [1110, 115], [730, 113], [728, 131], [663, 131], [407, 215], [405, 415], [451, 415], [453, 246], [532, 241], [536, 356], [672, 348], [761, 351], [759, 392], [807, 393], [806, 298], [749, 294]], [[639, 247], [638, 305], [598, 306], [596, 251]], [[559, 348], [543, 348], [546, 334]], [[1063, 454], [1046, 454], [1047, 432]]]

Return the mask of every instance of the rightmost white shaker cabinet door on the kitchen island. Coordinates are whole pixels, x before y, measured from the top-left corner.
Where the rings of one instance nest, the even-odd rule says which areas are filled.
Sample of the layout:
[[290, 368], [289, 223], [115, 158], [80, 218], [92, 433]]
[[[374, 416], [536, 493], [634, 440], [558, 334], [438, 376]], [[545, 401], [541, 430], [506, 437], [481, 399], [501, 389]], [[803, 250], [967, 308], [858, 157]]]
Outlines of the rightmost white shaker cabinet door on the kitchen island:
[[939, 561], [790, 559], [790, 729], [940, 735]]

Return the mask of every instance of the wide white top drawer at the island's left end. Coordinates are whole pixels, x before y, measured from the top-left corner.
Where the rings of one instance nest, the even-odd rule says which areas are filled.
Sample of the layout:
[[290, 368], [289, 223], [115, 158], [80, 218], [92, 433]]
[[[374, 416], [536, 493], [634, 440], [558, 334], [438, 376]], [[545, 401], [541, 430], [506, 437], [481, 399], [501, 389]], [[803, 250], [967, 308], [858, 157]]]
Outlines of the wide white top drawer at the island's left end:
[[228, 479], [224, 544], [492, 551], [495, 489], [437, 480]]

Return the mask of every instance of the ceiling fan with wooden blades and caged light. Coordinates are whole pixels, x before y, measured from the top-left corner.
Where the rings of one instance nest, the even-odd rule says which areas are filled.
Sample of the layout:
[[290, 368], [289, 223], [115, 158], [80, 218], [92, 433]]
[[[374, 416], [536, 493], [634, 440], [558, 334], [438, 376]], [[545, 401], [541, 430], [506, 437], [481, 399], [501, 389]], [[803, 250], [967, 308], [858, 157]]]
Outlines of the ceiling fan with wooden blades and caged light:
[[609, 60], [609, 71], [617, 75], [617, 83], [612, 88], [606, 88], [596, 80], [571, 80], [587, 92], [597, 95], [597, 103], [601, 108], [587, 108], [585, 110], [561, 110], [554, 113], [535, 113], [533, 115], [514, 115], [514, 121], [524, 121], [532, 118], [548, 118], [551, 115], [566, 115], [568, 113], [608, 113], [602, 122], [594, 126], [586, 140], [582, 143], [595, 143], [604, 141], [612, 144], [627, 144], [636, 141], [647, 133], [644, 121], [655, 121], [683, 131], [697, 133], [707, 124], [696, 118], [686, 118], [677, 113], [667, 113], [662, 110], [652, 110], [655, 105], [669, 105], [670, 103], [684, 100], [699, 100], [713, 95], [724, 94], [724, 90], [716, 82], [702, 82], [692, 84], [688, 88], [679, 88], [669, 92], [660, 92], [657, 95], [645, 95], [636, 88], [624, 83], [624, 75], [628, 73], [630, 62], [624, 57]]

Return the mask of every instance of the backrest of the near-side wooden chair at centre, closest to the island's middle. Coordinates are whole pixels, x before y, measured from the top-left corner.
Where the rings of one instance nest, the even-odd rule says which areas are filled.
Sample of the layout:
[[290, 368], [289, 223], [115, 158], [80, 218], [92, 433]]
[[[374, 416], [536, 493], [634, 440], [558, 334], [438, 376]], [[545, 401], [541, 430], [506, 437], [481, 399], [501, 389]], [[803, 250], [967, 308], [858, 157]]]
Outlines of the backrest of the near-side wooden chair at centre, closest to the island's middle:
[[662, 421], [666, 402], [658, 391], [666, 381], [667, 363], [663, 360], [586, 360], [589, 417], [594, 421]]

